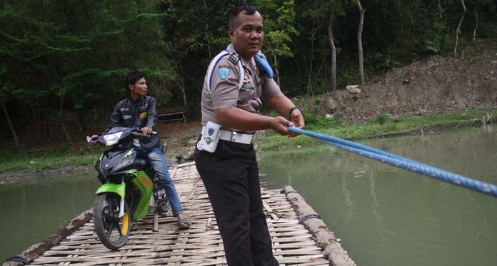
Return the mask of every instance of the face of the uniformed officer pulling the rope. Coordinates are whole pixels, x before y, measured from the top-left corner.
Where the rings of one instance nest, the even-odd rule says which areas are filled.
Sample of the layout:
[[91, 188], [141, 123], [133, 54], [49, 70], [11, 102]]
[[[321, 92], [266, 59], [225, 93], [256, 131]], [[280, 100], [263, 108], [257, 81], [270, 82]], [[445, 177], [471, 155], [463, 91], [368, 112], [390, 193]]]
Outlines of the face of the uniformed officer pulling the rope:
[[234, 28], [229, 29], [229, 37], [236, 52], [249, 61], [259, 50], [264, 40], [262, 16], [258, 12], [246, 15], [241, 12], [235, 20]]

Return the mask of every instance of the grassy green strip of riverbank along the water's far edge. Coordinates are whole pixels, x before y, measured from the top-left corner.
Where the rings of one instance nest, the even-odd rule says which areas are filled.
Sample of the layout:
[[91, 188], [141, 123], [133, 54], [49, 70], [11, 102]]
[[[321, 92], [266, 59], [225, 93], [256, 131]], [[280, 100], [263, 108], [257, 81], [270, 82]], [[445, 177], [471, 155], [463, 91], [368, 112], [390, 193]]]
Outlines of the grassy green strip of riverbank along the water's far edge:
[[[333, 126], [323, 126], [322, 122], [308, 123], [306, 129], [348, 140], [424, 135], [460, 128], [490, 126], [497, 123], [497, 108], [471, 108], [448, 113], [431, 113], [424, 116], [388, 117], [378, 115], [371, 118], [370, 121], [361, 123], [346, 123], [336, 120], [330, 123]], [[176, 138], [181, 141], [169, 143], [169, 149], [166, 153], [169, 165], [178, 163], [176, 158], [181, 157], [185, 152], [187, 140], [194, 138], [194, 133], [191, 133], [192, 128], [186, 127], [186, 132], [183, 134], [176, 132]], [[315, 145], [317, 142], [317, 140], [303, 135], [297, 138], [287, 138], [274, 134], [259, 138], [255, 144], [257, 150], [275, 150], [285, 147]], [[81, 151], [79, 152], [81, 153]], [[101, 148], [97, 148], [93, 153], [84, 150], [84, 154], [77, 152], [72, 154], [3, 153], [1, 155], [0, 185], [74, 173], [94, 174], [94, 161], [100, 152]]]

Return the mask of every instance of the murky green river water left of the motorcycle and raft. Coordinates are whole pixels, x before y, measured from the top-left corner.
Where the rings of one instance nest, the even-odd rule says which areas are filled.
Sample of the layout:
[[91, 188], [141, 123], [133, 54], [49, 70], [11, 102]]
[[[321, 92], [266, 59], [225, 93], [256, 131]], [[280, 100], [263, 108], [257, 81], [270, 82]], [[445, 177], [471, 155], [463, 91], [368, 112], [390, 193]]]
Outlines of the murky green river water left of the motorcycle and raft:
[[0, 185], [0, 263], [90, 208], [99, 183], [95, 172]]

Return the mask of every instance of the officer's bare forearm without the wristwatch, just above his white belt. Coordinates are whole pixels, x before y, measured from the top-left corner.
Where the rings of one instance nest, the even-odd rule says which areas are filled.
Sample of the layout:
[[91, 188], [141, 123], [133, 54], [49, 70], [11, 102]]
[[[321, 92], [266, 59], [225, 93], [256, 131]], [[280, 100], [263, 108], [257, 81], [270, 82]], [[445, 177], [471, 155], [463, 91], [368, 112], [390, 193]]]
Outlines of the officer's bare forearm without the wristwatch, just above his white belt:
[[261, 116], [236, 107], [216, 109], [214, 113], [216, 114], [216, 120], [221, 125], [236, 128], [239, 131], [273, 129], [281, 135], [290, 135], [291, 132], [286, 127], [293, 126], [293, 123], [281, 116]]

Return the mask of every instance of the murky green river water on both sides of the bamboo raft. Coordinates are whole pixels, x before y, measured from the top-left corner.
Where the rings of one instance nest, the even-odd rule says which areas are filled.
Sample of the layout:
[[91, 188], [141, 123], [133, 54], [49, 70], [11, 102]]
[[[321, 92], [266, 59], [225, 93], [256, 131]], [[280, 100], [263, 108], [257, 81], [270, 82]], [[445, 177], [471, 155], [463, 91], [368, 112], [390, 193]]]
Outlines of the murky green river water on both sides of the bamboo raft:
[[[497, 132], [363, 141], [497, 184]], [[497, 265], [497, 198], [330, 145], [259, 154], [269, 189], [291, 185], [357, 265]], [[0, 262], [65, 226], [94, 202], [96, 174], [0, 186]]]

